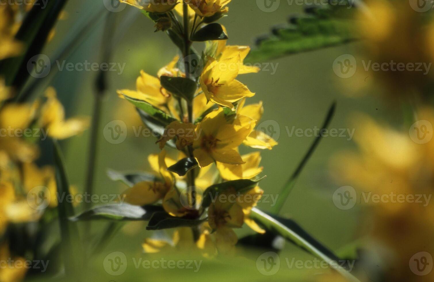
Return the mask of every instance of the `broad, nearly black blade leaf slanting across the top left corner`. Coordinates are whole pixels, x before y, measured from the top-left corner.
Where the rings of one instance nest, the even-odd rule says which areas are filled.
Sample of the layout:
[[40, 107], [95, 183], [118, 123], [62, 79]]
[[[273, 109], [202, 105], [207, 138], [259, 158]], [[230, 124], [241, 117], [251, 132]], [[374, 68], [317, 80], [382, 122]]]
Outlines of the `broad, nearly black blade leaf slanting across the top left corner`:
[[[16, 39], [24, 45], [23, 55], [4, 60], [0, 66], [0, 76], [5, 78], [8, 86], [14, 86], [18, 93], [30, 76], [27, 64], [33, 56], [41, 53], [66, 2], [50, 0], [46, 6], [33, 5], [16, 33]], [[46, 65], [48, 62], [43, 63]]]

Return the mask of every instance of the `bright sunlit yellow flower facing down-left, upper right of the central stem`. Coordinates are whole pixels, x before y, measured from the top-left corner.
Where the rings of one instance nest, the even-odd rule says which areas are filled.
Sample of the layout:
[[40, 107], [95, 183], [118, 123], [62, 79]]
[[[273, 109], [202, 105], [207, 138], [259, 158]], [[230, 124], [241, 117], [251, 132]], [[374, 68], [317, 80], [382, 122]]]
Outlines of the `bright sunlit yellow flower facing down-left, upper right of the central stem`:
[[200, 81], [208, 101], [235, 109], [233, 102], [255, 95], [247, 86], [235, 79], [240, 72], [240, 66], [239, 54], [220, 61], [209, 58]]

